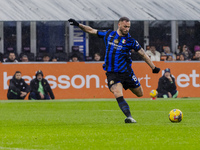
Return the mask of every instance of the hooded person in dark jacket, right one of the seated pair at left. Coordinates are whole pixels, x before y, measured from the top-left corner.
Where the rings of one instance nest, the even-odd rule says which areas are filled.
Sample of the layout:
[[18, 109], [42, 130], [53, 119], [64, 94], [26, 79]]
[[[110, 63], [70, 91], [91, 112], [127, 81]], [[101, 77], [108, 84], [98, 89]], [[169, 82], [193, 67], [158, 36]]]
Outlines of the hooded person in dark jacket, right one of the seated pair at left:
[[49, 100], [50, 97], [51, 99], [55, 98], [48, 81], [43, 78], [41, 70], [36, 72], [35, 79], [31, 80], [30, 86], [30, 100]]

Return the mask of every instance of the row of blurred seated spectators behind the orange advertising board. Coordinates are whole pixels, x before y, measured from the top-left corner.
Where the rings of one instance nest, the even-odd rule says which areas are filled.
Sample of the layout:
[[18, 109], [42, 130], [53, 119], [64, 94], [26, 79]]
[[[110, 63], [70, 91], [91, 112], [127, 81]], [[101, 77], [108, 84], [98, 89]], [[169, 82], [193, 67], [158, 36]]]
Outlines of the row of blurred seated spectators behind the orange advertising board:
[[[156, 46], [147, 46], [146, 53], [152, 61], [200, 61], [200, 46], [196, 45], [193, 50], [187, 45], [178, 46], [173, 53], [169, 46], [163, 46], [162, 50], [157, 50]], [[137, 52], [131, 51], [133, 61], [143, 61]], [[14, 49], [9, 48], [7, 52], [0, 53], [0, 62], [79, 62], [79, 61], [103, 61], [104, 56], [96, 52], [91, 57], [85, 57], [79, 51], [78, 46], [72, 48], [72, 52], [67, 54], [63, 47], [57, 47], [54, 54], [50, 54], [44, 47], [39, 49], [36, 56], [31, 53], [30, 48], [23, 48], [22, 52], [17, 55]]]

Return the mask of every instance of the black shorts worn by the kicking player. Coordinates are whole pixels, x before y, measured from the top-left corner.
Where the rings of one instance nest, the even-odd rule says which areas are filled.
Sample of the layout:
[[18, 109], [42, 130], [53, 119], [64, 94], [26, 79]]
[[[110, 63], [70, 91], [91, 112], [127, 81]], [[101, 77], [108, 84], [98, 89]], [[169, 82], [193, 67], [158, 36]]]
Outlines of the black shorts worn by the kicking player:
[[121, 83], [125, 90], [129, 88], [137, 88], [140, 86], [140, 82], [134, 73], [106, 72], [106, 76], [109, 89], [116, 83]]

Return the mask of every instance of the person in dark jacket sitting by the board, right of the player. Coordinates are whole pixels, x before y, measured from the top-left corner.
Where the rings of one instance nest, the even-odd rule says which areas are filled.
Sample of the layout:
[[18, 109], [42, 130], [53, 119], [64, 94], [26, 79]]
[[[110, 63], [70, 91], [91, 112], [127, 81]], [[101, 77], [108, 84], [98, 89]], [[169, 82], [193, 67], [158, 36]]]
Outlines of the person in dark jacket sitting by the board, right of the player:
[[159, 98], [177, 98], [175, 78], [171, 75], [169, 68], [164, 70], [163, 76], [159, 79], [157, 91]]

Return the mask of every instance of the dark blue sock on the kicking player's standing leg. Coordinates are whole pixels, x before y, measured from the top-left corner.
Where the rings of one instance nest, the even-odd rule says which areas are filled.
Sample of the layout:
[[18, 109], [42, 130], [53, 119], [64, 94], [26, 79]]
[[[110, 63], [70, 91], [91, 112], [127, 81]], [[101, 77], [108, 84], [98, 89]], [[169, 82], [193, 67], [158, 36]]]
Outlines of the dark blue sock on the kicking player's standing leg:
[[131, 117], [131, 112], [130, 112], [130, 108], [127, 104], [127, 102], [124, 100], [124, 97], [118, 97], [116, 98], [119, 107], [121, 108], [122, 112], [126, 115], [126, 117]]

